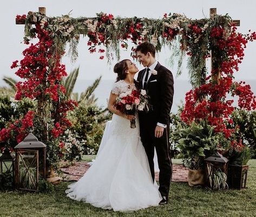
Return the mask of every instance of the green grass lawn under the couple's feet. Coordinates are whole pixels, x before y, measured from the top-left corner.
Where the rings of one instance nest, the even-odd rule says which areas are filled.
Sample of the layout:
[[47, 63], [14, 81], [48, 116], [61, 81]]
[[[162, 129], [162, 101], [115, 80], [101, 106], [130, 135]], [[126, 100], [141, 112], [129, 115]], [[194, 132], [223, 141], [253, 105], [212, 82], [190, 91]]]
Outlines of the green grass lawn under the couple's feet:
[[[84, 160], [89, 161], [88, 156]], [[70, 182], [62, 182], [51, 193], [0, 192], [0, 216], [256, 216], [256, 160], [250, 160], [249, 165], [245, 190], [211, 192], [189, 187], [187, 183], [172, 182], [168, 205], [120, 213], [67, 198], [65, 189]]]

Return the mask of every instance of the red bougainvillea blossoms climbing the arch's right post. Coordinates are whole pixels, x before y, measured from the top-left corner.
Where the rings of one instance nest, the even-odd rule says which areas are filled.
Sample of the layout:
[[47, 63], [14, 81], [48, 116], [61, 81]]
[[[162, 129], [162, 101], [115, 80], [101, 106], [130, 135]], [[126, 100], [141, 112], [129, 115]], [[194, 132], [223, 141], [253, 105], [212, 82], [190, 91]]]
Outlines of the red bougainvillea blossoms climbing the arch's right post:
[[[197, 25], [188, 25], [194, 34], [200, 34], [201, 29]], [[251, 87], [245, 82], [234, 82], [234, 70], [238, 71], [238, 65], [244, 57], [244, 48], [248, 41], [256, 40], [256, 34], [246, 36], [237, 33], [233, 27], [228, 38], [225, 30], [221, 27], [213, 28], [211, 37], [216, 42], [216, 49], [224, 50], [227, 58], [221, 60], [220, 68], [213, 68], [212, 75], [206, 78], [206, 83], [200, 87], [188, 91], [185, 97], [185, 107], [181, 113], [181, 119], [190, 124], [193, 121], [205, 119], [209, 124], [215, 126], [216, 133], [223, 133], [226, 138], [230, 138], [234, 129], [228, 129], [228, 123], [233, 123], [230, 118], [234, 107], [233, 100], [226, 100], [227, 94], [239, 96], [238, 105], [247, 110], [256, 108], [256, 97], [251, 91]], [[191, 55], [189, 52], [188, 55]], [[220, 71], [218, 82], [214, 80], [216, 73]], [[241, 147], [241, 142], [234, 142]]]

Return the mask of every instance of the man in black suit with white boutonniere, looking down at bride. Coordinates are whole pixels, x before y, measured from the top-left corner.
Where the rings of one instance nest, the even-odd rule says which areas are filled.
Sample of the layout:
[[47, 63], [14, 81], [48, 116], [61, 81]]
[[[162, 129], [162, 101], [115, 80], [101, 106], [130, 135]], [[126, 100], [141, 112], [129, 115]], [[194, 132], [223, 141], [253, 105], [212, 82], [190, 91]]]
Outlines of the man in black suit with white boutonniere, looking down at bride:
[[154, 148], [159, 165], [159, 192], [162, 195], [160, 205], [168, 202], [170, 181], [172, 179], [172, 160], [169, 144], [170, 108], [173, 104], [173, 75], [167, 68], [155, 60], [155, 47], [149, 42], [140, 44], [137, 48], [139, 62], [146, 67], [139, 72], [137, 81], [139, 88], [145, 89], [150, 97], [152, 109], [139, 113], [140, 135], [148, 156], [150, 172], [153, 181]]

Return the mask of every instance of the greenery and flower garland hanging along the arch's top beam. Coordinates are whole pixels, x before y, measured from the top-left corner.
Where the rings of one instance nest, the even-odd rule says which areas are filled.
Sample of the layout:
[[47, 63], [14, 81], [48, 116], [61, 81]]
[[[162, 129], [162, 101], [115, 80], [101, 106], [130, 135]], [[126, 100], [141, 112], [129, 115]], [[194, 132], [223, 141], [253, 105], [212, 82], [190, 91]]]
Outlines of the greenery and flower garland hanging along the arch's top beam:
[[[180, 14], [165, 14], [161, 19], [114, 18], [113, 15], [103, 12], [96, 15], [96, 17], [71, 18], [69, 15], [47, 17], [38, 12], [30, 13], [25, 18], [24, 40], [29, 41], [30, 38], [35, 37], [35, 28], [29, 22], [31, 16], [36, 17], [42, 29], [51, 32], [56, 53], [61, 54], [67, 42], [70, 43], [69, 54], [72, 61], [75, 61], [78, 56], [77, 44], [80, 35], [89, 37], [88, 49], [91, 53], [98, 51], [101, 55], [100, 59], [104, 58], [102, 54], [106, 52], [108, 62], [111, 62], [114, 56], [117, 59], [120, 58], [120, 48], [128, 49], [128, 40], [135, 45], [150, 41], [157, 51], [161, 51], [165, 45], [172, 48], [173, 42], [178, 40], [181, 52], [175, 49], [171, 55], [172, 58], [180, 56], [178, 74], [181, 73], [181, 63], [187, 53], [191, 83], [193, 87], [198, 87], [202, 84], [201, 77], [206, 77], [205, 60], [216, 45], [216, 41], [210, 35], [212, 29], [221, 27], [225, 29], [228, 37], [232, 22], [228, 15], [215, 15], [213, 18], [195, 20]], [[131, 56], [136, 58], [134, 47], [131, 49]]]

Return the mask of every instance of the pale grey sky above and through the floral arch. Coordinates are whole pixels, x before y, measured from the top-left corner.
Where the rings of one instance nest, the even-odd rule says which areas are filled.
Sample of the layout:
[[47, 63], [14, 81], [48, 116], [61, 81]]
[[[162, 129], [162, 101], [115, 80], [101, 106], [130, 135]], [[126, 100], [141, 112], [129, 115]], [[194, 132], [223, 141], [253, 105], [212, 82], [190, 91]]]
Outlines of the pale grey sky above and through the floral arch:
[[[209, 17], [209, 8], [217, 8], [217, 14], [229, 14], [233, 19], [240, 19], [240, 27], [238, 31], [246, 34], [249, 29], [256, 31], [256, 1], [207, 1], [207, 0], [194, 0], [194, 1], [172, 1], [172, 0], [158, 0], [158, 1], [81, 1], [81, 0], [9, 0], [2, 1], [2, 10], [0, 14], [1, 19], [1, 34], [0, 42], [2, 43], [1, 58], [0, 58], [0, 86], [3, 76], [13, 77], [18, 80], [15, 75], [15, 69], [10, 69], [10, 65], [15, 60], [22, 60], [22, 51], [26, 48], [22, 44], [24, 36], [24, 25], [16, 25], [15, 17], [17, 14], [27, 14], [28, 11], [38, 11], [38, 6], [46, 7], [47, 16], [61, 16], [68, 14], [71, 11], [71, 17], [95, 17], [98, 12], [106, 12], [113, 14], [115, 17], [149, 17], [149, 18], [162, 18], [163, 14], [169, 12], [176, 12], [184, 14], [188, 18], [200, 19]], [[63, 57], [62, 63], [66, 65], [67, 72], [76, 67], [80, 67], [79, 80], [95, 80], [102, 75], [103, 80], [115, 80], [116, 75], [113, 73], [113, 66], [117, 62], [114, 60], [111, 65], [107, 64], [107, 60], [99, 60], [99, 54], [90, 54], [88, 51], [86, 38], [81, 38], [78, 45], [79, 57], [75, 63], [71, 63], [70, 58]], [[165, 49], [156, 56], [157, 60], [170, 68], [168, 60], [170, 51]], [[121, 59], [131, 58], [130, 50], [121, 51]], [[249, 43], [245, 51], [245, 58], [240, 64], [240, 71], [235, 74], [236, 80], [256, 80], [256, 42]], [[139, 69], [143, 66], [137, 63]], [[176, 75], [176, 68], [170, 68]], [[188, 74], [185, 67], [183, 73], [177, 80], [188, 80]]]

